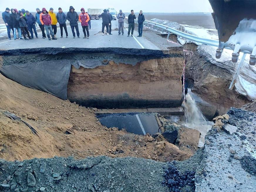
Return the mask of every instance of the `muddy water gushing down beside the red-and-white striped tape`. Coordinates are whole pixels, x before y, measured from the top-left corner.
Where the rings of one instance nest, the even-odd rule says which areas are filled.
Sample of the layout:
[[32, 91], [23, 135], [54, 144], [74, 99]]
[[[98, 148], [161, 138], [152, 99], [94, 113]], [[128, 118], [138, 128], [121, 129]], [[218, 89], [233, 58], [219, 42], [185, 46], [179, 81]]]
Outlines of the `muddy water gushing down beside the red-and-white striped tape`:
[[196, 105], [196, 101], [191, 97], [190, 94], [185, 96], [185, 110], [186, 119], [182, 121], [183, 125], [196, 129], [201, 133], [201, 138], [198, 143], [198, 147], [204, 146], [204, 137], [206, 133], [211, 129], [213, 122], [207, 121], [201, 110]]

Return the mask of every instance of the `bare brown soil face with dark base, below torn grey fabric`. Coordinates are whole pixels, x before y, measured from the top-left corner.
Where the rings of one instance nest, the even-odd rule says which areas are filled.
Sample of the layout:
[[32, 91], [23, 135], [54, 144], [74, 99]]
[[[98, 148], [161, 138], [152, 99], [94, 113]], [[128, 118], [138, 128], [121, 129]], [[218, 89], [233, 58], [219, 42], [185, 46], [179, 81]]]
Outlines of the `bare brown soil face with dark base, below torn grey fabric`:
[[182, 103], [183, 57], [107, 61], [92, 69], [72, 66], [68, 99], [97, 108], [178, 107]]

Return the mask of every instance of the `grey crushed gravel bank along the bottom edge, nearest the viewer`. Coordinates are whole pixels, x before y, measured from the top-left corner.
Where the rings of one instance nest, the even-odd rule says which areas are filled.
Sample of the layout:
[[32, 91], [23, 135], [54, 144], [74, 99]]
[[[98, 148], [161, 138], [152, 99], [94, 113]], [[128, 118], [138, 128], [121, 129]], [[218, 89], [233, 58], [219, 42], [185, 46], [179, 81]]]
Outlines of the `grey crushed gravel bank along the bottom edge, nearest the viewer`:
[[[0, 160], [0, 183], [11, 175], [8, 184], [1, 184], [0, 191], [7, 192], [12, 185], [16, 185], [13, 191], [28, 192], [169, 191], [161, 184], [167, 164], [153, 160], [99, 156], [84, 160], [35, 158], [23, 161], [19, 167], [20, 163]], [[41, 173], [41, 165], [45, 164], [45, 172]]]

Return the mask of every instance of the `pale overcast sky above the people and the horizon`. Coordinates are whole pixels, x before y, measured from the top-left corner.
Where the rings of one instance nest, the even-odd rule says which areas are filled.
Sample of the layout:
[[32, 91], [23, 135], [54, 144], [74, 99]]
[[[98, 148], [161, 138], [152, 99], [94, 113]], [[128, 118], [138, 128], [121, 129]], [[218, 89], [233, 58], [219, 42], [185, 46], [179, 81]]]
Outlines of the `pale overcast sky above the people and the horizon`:
[[17, 8], [21, 10], [24, 8], [28, 11], [36, 11], [36, 8], [42, 10], [45, 7], [49, 10], [53, 7], [57, 11], [59, 7], [63, 11], [68, 11], [69, 6], [72, 5], [76, 11], [80, 8], [115, 8], [117, 11], [122, 9], [123, 12], [156, 12], [156, 13], [179, 13], [179, 12], [212, 12], [212, 8], [208, 0], [0, 0], [0, 8], [4, 11], [6, 7]]

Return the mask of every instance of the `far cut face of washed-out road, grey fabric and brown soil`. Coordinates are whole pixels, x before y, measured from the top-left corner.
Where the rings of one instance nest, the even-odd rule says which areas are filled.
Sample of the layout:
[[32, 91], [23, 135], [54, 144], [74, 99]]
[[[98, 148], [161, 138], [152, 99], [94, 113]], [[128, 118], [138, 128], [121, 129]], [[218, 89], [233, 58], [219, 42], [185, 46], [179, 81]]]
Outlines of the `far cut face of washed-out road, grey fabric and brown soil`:
[[[182, 48], [38, 48], [0, 51], [6, 77], [87, 107], [178, 107]], [[71, 71], [70, 71], [71, 69]]]

